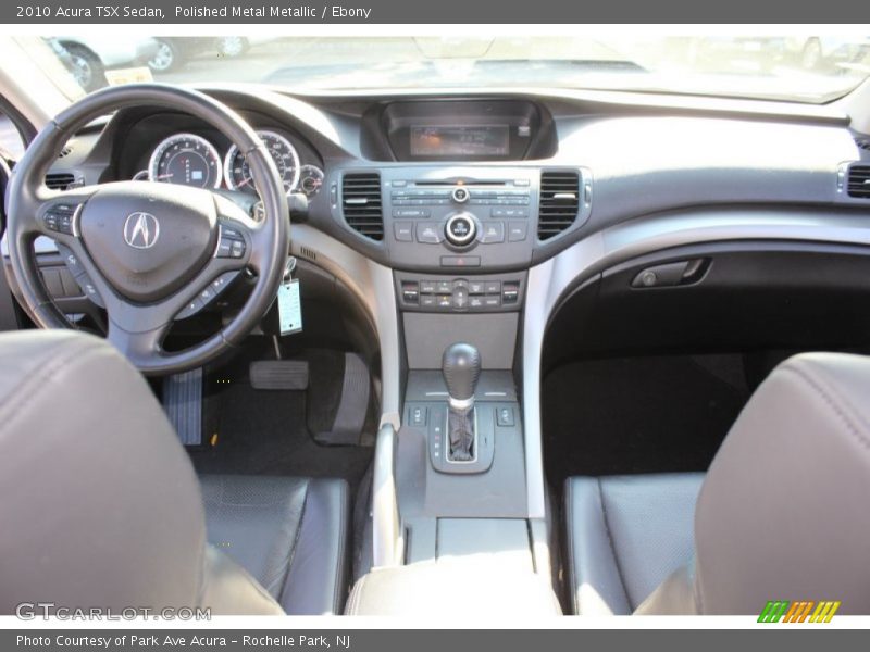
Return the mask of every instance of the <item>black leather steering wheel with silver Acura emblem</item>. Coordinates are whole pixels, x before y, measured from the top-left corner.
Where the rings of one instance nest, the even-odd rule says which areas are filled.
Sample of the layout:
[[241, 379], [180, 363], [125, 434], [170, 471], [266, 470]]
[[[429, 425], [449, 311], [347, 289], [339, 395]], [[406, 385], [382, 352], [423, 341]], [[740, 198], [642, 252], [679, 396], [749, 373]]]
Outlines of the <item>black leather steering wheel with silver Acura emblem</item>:
[[[264, 217], [253, 221], [210, 190], [115, 181], [50, 190], [45, 176], [62, 147], [94, 118], [136, 105], [165, 106], [207, 122], [246, 156]], [[34, 240], [58, 242], [79, 286], [108, 314], [107, 339], [141, 372], [202, 366], [238, 344], [266, 313], [289, 252], [287, 198], [275, 163], [253, 129], [212, 98], [162, 84], [110, 87], [60, 113], [15, 165], [7, 193], [9, 255], [25, 308], [42, 328], [73, 328], [51, 301]], [[173, 321], [249, 271], [256, 281], [223, 329], [183, 351], [162, 342]]]

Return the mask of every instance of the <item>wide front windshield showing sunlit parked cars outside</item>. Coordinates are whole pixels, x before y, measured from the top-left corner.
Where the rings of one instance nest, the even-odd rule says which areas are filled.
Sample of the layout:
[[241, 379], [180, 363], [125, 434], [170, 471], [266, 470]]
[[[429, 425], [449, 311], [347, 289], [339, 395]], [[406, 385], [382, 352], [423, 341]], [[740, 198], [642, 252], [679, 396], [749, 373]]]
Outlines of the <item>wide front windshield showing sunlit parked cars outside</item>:
[[21, 41], [71, 99], [107, 84], [154, 79], [306, 91], [610, 89], [818, 103], [870, 75], [868, 37], [122, 39], [82, 33]]

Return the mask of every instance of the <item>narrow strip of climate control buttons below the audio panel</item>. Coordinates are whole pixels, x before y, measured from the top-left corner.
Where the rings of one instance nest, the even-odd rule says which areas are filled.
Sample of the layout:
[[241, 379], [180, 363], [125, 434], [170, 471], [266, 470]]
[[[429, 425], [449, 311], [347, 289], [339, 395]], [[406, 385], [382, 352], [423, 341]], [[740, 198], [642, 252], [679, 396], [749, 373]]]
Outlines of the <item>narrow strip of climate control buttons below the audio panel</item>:
[[522, 308], [525, 273], [447, 276], [396, 272], [399, 306], [408, 312], [486, 313]]

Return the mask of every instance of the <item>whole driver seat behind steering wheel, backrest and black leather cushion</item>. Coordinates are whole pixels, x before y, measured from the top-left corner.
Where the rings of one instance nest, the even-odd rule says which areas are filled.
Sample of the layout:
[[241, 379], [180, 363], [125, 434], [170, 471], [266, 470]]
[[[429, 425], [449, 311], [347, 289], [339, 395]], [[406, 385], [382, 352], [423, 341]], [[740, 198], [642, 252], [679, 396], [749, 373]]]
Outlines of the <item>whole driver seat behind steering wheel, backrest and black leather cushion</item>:
[[344, 480], [197, 478], [142, 376], [63, 330], [0, 336], [0, 614], [340, 614]]

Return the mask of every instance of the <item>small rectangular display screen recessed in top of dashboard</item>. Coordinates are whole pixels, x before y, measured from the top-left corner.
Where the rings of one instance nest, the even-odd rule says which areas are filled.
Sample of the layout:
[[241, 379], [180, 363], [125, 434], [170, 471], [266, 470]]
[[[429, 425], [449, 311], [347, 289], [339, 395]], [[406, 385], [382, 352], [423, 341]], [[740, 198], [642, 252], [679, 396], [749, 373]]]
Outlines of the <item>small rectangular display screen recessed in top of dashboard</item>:
[[411, 127], [412, 156], [507, 156], [507, 125]]

